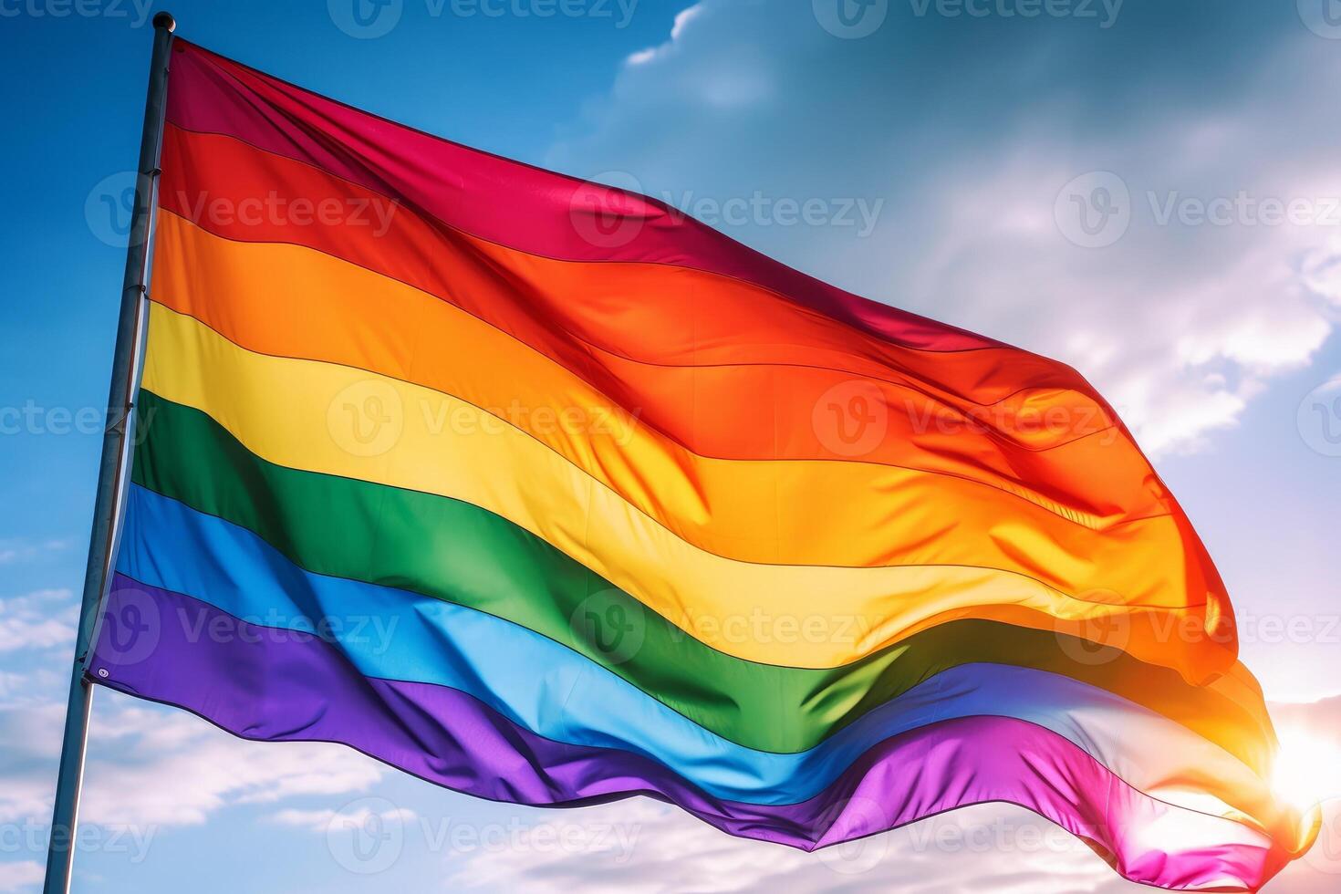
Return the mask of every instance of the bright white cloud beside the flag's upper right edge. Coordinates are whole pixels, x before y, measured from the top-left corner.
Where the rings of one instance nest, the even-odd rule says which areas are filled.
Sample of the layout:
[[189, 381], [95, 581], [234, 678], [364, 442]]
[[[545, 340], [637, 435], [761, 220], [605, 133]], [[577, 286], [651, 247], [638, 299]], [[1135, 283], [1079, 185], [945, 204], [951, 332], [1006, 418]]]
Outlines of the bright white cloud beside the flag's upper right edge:
[[[1326, 239], [1321, 231], [1167, 231], [1149, 222], [1149, 190], [1133, 181], [1140, 220], [1112, 247], [1080, 248], [1051, 214], [1023, 222], [1051, 208], [1071, 177], [1034, 161], [1050, 155], [1047, 138], [1022, 137], [1007, 155], [1026, 161], [952, 173], [932, 190], [935, 235], [898, 275], [905, 294], [933, 315], [1075, 366], [1151, 453], [1196, 449], [1234, 425], [1271, 377], [1307, 365], [1330, 334], [1291, 265]], [[1189, 263], [1200, 269], [1184, 271]]]

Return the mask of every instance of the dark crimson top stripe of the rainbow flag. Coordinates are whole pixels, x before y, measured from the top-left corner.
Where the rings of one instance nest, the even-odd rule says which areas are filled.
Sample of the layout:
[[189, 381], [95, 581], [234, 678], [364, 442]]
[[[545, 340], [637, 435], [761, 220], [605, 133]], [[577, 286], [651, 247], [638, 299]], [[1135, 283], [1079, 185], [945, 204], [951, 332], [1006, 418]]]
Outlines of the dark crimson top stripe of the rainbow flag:
[[806, 276], [664, 202], [424, 134], [184, 40], [174, 50], [168, 121], [307, 161], [483, 239], [563, 260], [646, 261], [731, 276], [908, 347], [1000, 346]]

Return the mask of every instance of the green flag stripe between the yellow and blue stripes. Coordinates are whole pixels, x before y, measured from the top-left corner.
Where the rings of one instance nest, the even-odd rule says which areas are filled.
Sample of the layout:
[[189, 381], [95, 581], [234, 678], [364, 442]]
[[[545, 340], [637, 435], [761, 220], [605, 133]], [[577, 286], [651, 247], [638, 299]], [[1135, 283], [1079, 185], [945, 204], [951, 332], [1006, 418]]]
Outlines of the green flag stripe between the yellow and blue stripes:
[[[843, 667], [744, 661], [479, 507], [267, 462], [204, 413], [149, 391], [141, 391], [139, 413], [135, 484], [252, 531], [308, 571], [409, 590], [528, 627], [748, 748], [806, 751], [940, 670], [991, 662], [1066, 674], [1227, 740], [1222, 744], [1251, 765], [1265, 759], [1240, 753], [1262, 741], [1247, 712], [1125, 653], [1077, 662], [1062, 647], [1078, 647], [1077, 641], [966, 619]], [[620, 627], [622, 641], [613, 633]]]

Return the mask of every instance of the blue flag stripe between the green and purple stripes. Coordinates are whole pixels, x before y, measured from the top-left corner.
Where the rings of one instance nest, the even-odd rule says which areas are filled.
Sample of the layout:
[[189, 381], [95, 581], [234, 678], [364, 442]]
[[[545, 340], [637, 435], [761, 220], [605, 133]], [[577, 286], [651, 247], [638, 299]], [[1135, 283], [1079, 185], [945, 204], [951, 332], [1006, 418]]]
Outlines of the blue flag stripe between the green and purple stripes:
[[1110, 737], [1089, 735], [1084, 717], [1153, 718], [1175, 736], [1195, 737], [1069, 677], [963, 665], [810, 751], [762, 752], [704, 729], [585, 655], [510, 621], [393, 587], [307, 572], [245, 528], [138, 485], [127, 501], [117, 562], [122, 574], [266, 627], [318, 631], [366, 677], [459, 689], [547, 739], [657, 760], [716, 797], [756, 804], [806, 800], [876, 743], [956, 717], [1034, 722], [1118, 772], [1113, 755], [1104, 753], [1113, 745], [1097, 741]]

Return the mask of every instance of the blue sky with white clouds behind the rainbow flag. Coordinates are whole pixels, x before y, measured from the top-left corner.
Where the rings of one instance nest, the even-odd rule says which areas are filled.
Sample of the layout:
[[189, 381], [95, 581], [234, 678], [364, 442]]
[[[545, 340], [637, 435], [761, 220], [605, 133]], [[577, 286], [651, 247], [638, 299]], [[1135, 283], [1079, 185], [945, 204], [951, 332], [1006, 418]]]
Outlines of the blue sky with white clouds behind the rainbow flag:
[[[1341, 8], [842, 1], [170, 8], [279, 76], [1075, 365], [1185, 504], [1267, 696], [1341, 694]], [[44, 856], [154, 8], [0, 0], [0, 893]], [[1337, 702], [1289, 717], [1341, 748]], [[107, 692], [90, 755], [76, 890], [1136, 890], [1004, 808], [809, 856], [642, 802], [472, 802]], [[1273, 890], [1336, 889], [1329, 832]]]

